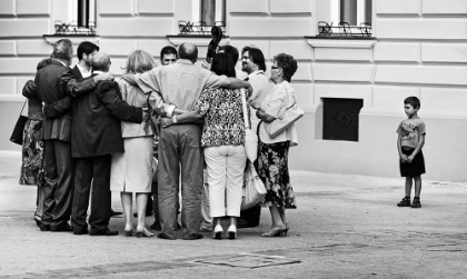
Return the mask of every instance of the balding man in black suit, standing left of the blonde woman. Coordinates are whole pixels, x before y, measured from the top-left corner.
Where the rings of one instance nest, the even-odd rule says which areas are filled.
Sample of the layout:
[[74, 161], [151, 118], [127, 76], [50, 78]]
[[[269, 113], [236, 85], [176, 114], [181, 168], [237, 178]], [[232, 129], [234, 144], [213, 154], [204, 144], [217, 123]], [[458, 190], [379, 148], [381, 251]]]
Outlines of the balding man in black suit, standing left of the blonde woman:
[[[92, 57], [93, 73], [108, 72], [110, 58], [103, 52]], [[91, 236], [117, 236], [109, 229], [111, 155], [123, 152], [120, 120], [140, 123], [141, 108], [129, 106], [121, 99], [118, 83], [102, 81], [96, 92], [73, 99], [74, 119], [71, 128], [71, 155], [76, 159], [76, 177], [71, 223], [74, 235], [88, 233], [86, 222], [92, 182]], [[147, 116], [145, 116], [147, 119]]]

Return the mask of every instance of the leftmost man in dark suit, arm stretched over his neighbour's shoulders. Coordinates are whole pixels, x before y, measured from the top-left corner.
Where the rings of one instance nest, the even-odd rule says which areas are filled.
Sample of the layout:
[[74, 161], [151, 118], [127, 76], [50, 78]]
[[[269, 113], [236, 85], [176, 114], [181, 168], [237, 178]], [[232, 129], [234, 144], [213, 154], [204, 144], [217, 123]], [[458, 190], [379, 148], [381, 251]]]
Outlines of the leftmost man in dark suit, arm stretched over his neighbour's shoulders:
[[[50, 63], [40, 69], [34, 78], [37, 96], [46, 104], [63, 100], [67, 94], [86, 93], [93, 90], [100, 77], [76, 81], [69, 68], [73, 49], [71, 41], [62, 39], [53, 44]], [[109, 77], [103, 77], [109, 78]], [[31, 98], [30, 96], [27, 96]], [[33, 97], [32, 97], [33, 98]], [[69, 103], [60, 103], [63, 108]], [[71, 190], [73, 187], [73, 165], [71, 160], [72, 113], [51, 118], [46, 114], [42, 126], [44, 142], [44, 211], [40, 222], [41, 231], [71, 231], [68, 225], [71, 213]]]

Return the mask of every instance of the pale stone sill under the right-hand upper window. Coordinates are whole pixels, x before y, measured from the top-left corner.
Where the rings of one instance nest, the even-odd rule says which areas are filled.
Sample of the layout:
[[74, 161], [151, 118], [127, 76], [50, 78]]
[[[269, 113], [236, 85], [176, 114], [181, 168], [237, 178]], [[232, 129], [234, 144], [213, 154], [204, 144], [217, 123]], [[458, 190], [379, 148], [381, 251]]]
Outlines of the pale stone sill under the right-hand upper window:
[[305, 37], [314, 48], [370, 49], [378, 41], [374, 37]]

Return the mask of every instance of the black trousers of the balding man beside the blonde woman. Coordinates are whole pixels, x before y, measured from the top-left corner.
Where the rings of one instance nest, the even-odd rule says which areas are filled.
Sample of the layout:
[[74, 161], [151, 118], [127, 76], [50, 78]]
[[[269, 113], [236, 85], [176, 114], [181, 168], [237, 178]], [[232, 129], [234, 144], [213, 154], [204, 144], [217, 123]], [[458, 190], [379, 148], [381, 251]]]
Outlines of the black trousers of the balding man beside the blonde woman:
[[109, 226], [111, 215], [111, 155], [77, 158], [76, 165], [71, 225], [74, 228], [88, 228], [86, 217], [92, 182], [91, 215], [89, 216], [89, 225], [92, 229], [103, 230]]

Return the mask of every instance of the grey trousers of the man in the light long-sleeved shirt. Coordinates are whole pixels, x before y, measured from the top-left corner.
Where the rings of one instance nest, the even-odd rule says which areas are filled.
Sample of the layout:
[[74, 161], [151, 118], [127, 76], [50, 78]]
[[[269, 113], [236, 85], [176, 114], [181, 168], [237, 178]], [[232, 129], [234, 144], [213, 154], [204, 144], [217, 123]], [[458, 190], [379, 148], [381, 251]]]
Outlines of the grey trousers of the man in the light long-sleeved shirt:
[[183, 238], [195, 237], [201, 222], [202, 149], [201, 128], [176, 124], [161, 130], [159, 141], [159, 213], [162, 232], [176, 237], [179, 179], [181, 172], [181, 225]]

